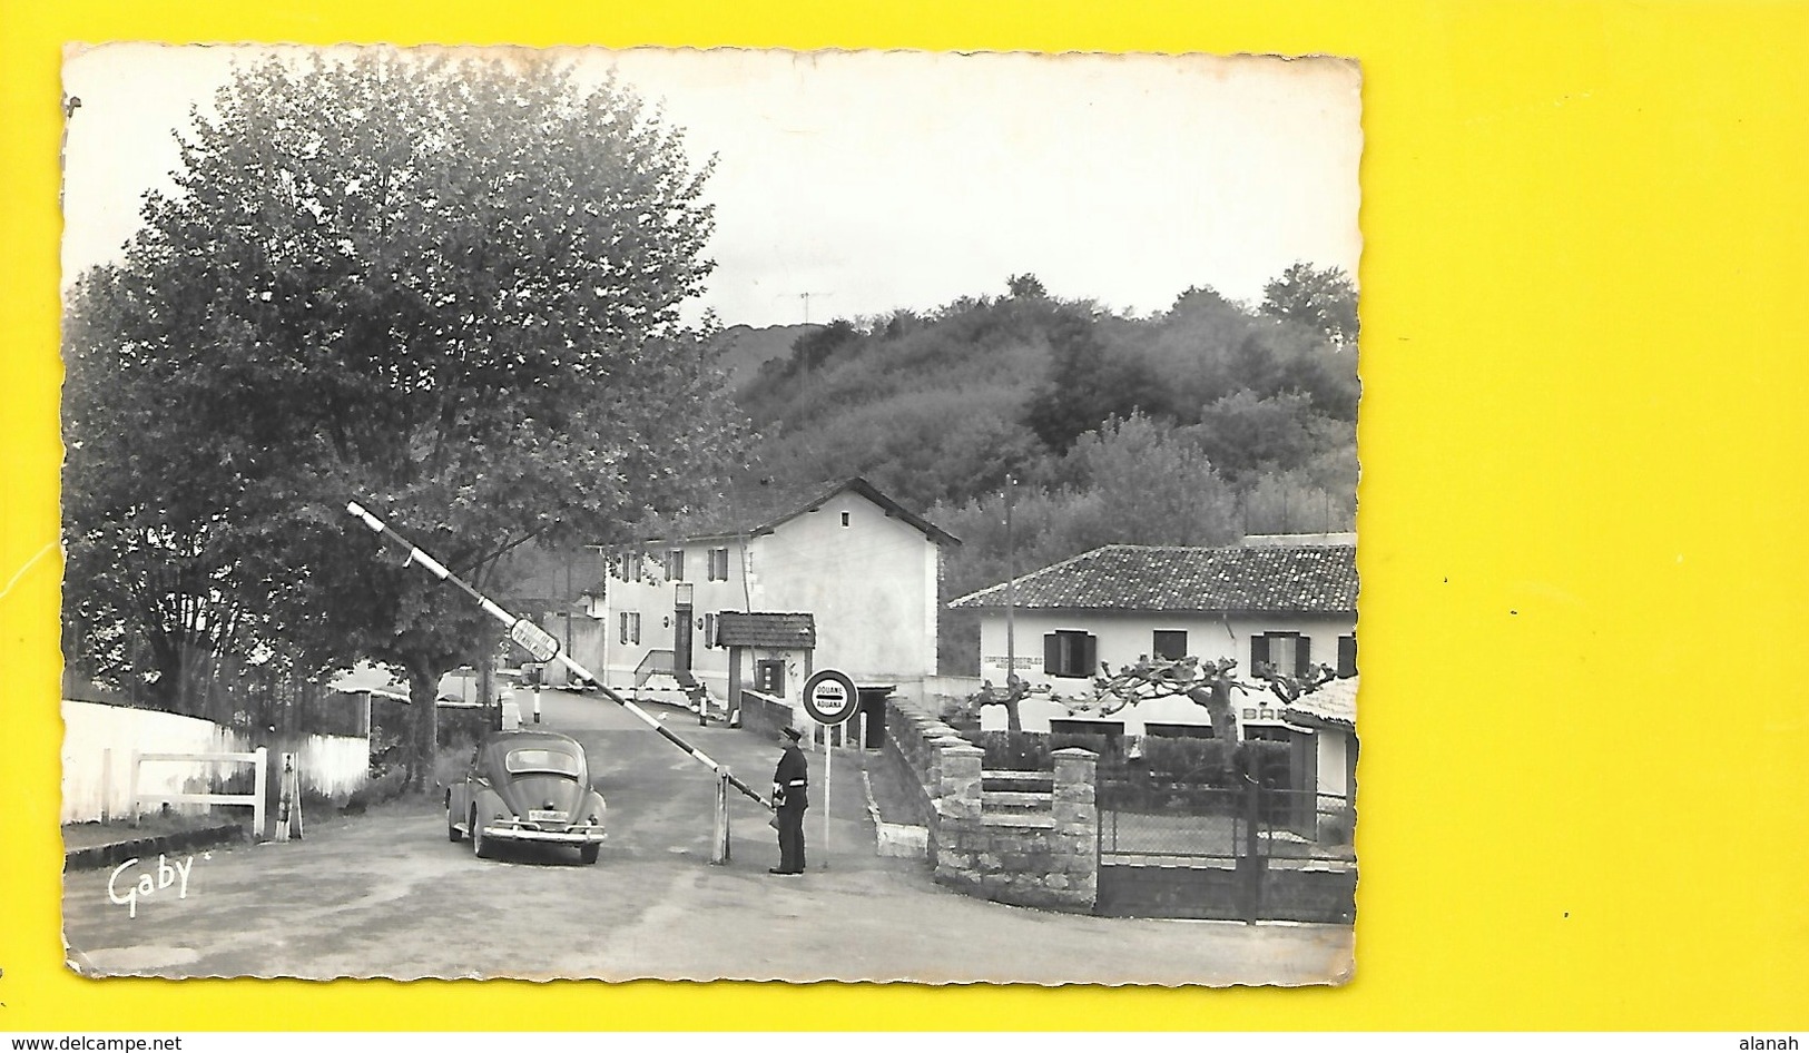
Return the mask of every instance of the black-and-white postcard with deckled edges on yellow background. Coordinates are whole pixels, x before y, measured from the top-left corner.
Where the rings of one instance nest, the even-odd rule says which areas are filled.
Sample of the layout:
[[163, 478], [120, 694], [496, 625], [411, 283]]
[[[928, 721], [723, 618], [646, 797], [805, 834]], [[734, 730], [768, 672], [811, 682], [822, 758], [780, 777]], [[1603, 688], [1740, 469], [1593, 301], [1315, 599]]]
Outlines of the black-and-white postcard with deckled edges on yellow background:
[[72, 970], [1353, 975], [1355, 62], [63, 85]]

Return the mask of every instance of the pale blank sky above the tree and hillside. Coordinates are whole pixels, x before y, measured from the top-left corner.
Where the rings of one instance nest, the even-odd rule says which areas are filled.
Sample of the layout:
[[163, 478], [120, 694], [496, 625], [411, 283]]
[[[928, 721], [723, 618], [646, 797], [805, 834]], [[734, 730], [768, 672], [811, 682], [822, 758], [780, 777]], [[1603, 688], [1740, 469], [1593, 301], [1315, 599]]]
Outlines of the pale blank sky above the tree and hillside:
[[[65, 286], [118, 259], [175, 136], [262, 47], [65, 60]], [[564, 49], [715, 156], [716, 271], [693, 315], [772, 326], [926, 309], [1035, 273], [1131, 313], [1190, 286], [1259, 300], [1360, 253], [1355, 63], [1340, 60]]]

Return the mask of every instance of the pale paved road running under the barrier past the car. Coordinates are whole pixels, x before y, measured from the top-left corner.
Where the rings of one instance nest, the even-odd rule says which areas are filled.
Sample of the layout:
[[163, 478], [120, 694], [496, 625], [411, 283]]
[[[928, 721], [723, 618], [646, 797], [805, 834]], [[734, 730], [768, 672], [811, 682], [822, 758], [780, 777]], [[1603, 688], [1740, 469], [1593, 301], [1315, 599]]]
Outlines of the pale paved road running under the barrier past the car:
[[[751, 785], [769, 782], [776, 742], [658, 713]], [[827, 859], [812, 796], [809, 874], [767, 874], [772, 830], [738, 796], [733, 859], [713, 867], [707, 769], [608, 702], [546, 693], [543, 720], [584, 742], [610, 802], [597, 865], [550, 849], [476, 859], [447, 841], [438, 802], [311, 816], [302, 841], [194, 856], [186, 897], [157, 890], [136, 919], [109, 903], [107, 870], [69, 874], [71, 961], [94, 973], [313, 979], [1301, 984], [1339, 977], [1351, 955], [1337, 926], [1076, 917], [941, 888], [923, 863], [874, 854], [857, 753], [836, 758]], [[810, 758], [818, 783], [821, 760]], [[156, 859], [134, 872], [156, 874]]]

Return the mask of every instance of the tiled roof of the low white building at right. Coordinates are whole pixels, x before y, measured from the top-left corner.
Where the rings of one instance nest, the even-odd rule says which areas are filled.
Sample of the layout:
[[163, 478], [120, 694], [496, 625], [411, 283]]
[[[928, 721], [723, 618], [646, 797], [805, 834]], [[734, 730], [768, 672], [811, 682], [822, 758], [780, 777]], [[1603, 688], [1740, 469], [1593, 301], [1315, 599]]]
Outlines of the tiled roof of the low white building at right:
[[[952, 608], [1002, 608], [995, 584]], [[1183, 548], [1107, 545], [1017, 579], [1015, 608], [1353, 613], [1353, 545]]]

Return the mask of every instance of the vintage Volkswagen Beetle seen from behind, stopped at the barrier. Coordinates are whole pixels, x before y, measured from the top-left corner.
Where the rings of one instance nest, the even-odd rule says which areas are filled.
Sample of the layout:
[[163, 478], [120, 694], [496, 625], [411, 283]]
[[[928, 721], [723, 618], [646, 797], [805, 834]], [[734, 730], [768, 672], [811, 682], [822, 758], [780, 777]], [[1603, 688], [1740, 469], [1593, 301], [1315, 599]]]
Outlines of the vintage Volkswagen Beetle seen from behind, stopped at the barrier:
[[557, 731], [496, 731], [478, 745], [465, 778], [447, 787], [447, 840], [469, 836], [485, 859], [501, 843], [572, 845], [595, 863], [602, 809], [582, 745]]

